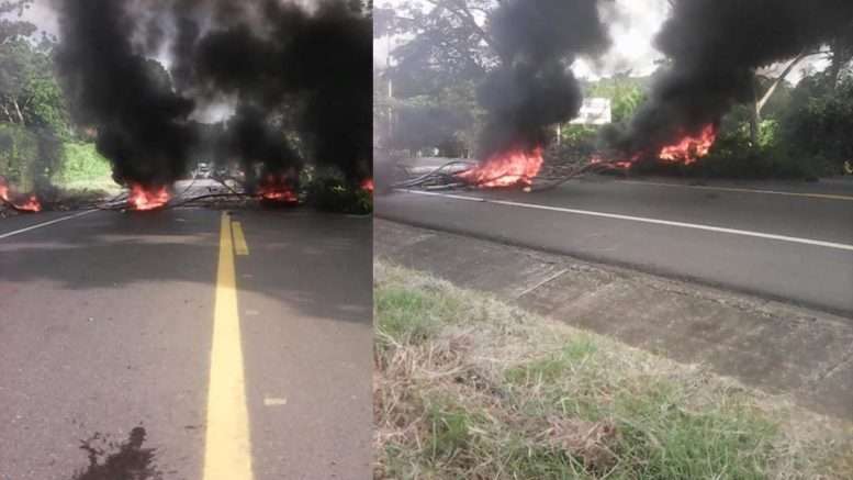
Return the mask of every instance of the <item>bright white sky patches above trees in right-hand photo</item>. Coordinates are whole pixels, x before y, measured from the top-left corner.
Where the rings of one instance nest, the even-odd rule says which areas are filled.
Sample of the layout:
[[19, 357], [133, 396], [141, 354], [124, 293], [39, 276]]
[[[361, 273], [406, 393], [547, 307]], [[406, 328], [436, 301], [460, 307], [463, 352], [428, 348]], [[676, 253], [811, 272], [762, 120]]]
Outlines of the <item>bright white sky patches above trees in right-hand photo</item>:
[[[379, 0], [378, 7], [394, 8], [411, 0]], [[535, 1], [535, 0], [532, 0]], [[613, 12], [605, 13], [605, 21], [609, 25], [611, 46], [610, 49], [598, 59], [581, 58], [573, 65], [574, 74], [581, 78], [595, 80], [602, 77], [610, 77], [614, 74], [630, 71], [631, 76], [647, 76], [655, 70], [656, 59], [663, 55], [652, 46], [654, 34], [666, 20], [669, 11], [667, 0], [616, 0]], [[380, 38], [373, 43], [373, 58], [378, 68], [386, 64], [389, 45], [393, 49], [394, 44], [405, 42], [404, 38]], [[776, 66], [768, 70], [778, 71], [783, 66]], [[804, 63], [795, 69], [788, 80], [797, 82], [804, 76], [805, 70], [824, 68], [826, 63]]]

